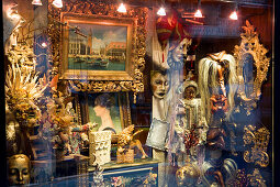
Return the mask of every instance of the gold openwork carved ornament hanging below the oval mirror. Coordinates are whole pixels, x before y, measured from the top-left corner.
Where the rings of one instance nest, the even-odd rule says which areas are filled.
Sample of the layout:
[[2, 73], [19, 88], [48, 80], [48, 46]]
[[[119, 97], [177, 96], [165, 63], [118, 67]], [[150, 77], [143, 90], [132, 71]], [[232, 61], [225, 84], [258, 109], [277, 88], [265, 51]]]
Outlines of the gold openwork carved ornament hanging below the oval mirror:
[[267, 154], [267, 146], [269, 143], [270, 132], [266, 128], [256, 130], [254, 125], [244, 128], [244, 144], [251, 145], [249, 151], [244, 152], [244, 160], [247, 163], [254, 163], [261, 167], [267, 167], [269, 164], [269, 155]]

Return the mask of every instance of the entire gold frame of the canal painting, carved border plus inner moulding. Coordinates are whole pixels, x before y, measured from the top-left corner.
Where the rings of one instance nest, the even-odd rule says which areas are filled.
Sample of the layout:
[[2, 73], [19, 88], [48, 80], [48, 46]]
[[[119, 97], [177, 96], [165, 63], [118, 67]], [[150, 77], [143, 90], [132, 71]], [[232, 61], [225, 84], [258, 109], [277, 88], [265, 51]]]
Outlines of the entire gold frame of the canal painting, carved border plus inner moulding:
[[[120, 13], [116, 10], [117, 4], [112, 2], [81, 0], [65, 1], [64, 7], [57, 9], [52, 6], [52, 0], [48, 0], [48, 33], [53, 56], [52, 75], [59, 74], [59, 79], [68, 81], [75, 91], [134, 91], [134, 96], [144, 91], [142, 72], [145, 67], [147, 8], [131, 7], [126, 13]], [[82, 38], [88, 36], [88, 33], [82, 32], [82, 29], [87, 26], [97, 29], [98, 25], [103, 25], [108, 31], [112, 31], [109, 25], [119, 26], [119, 29], [126, 28], [126, 38], [121, 41], [126, 43], [125, 53], [122, 54], [125, 58], [123, 69], [69, 68], [69, 64], [66, 62], [69, 58], [68, 47], [71, 42], [67, 35], [69, 31]], [[91, 58], [92, 56], [87, 57]], [[86, 56], [82, 58], [85, 61]], [[101, 57], [97, 64], [101, 64], [101, 61], [104, 59]], [[93, 59], [88, 62], [93, 62]]]

